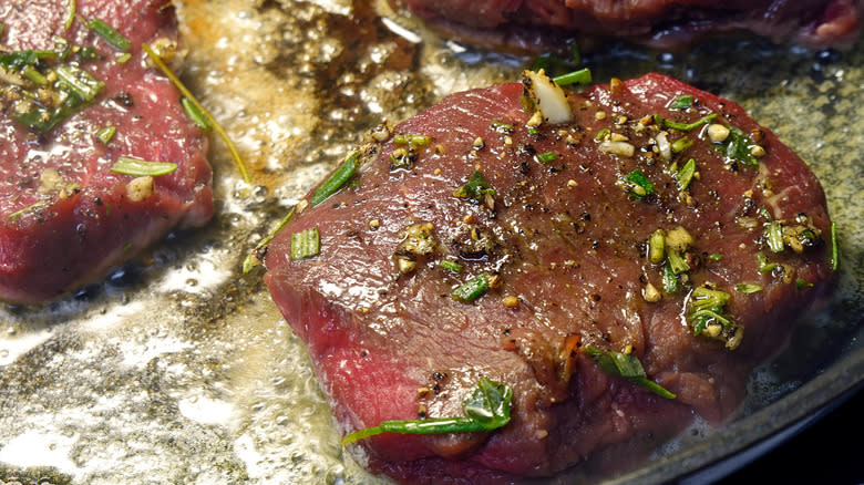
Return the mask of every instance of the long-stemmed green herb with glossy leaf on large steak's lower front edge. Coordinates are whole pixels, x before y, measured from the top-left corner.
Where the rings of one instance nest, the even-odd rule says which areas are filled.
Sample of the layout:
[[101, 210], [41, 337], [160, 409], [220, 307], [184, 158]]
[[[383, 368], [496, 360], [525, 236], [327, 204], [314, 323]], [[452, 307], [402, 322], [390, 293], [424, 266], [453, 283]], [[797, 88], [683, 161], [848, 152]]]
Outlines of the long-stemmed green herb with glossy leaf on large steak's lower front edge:
[[513, 390], [507, 384], [481, 378], [477, 385], [462, 401], [460, 417], [384, 421], [378, 426], [356, 431], [342, 438], [342, 445], [381, 433], [443, 434], [493, 431], [510, 423]]

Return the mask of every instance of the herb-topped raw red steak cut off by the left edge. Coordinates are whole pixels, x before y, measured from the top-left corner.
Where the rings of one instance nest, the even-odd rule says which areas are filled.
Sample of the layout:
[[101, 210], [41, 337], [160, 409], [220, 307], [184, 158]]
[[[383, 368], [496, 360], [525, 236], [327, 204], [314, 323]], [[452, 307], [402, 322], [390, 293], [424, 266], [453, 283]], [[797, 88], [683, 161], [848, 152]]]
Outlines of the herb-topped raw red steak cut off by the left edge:
[[[176, 47], [168, 1], [2, 0], [0, 24], [6, 61], [41, 52], [30, 64], [3, 64], [0, 299], [55, 298], [100, 280], [172, 228], [212, 218], [207, 140], [141, 49], [150, 43], [167, 59]], [[128, 47], [112, 45], [112, 32]], [[73, 73], [90, 95], [54, 81], [59, 73]], [[176, 169], [114, 173], [120, 157]]]

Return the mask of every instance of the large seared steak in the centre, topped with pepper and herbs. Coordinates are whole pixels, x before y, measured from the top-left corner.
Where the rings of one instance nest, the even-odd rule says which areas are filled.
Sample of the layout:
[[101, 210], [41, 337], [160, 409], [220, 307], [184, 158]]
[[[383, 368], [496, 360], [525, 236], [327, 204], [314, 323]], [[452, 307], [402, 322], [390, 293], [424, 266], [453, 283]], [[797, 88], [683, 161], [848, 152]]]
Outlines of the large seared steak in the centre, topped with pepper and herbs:
[[481, 379], [512, 388], [498, 430], [350, 445], [398, 482], [626, 468], [693, 413], [733, 413], [833, 278], [820, 184], [737, 104], [647, 74], [569, 93], [554, 124], [532, 79], [376, 132], [264, 255], [341, 432], [462, 416]]

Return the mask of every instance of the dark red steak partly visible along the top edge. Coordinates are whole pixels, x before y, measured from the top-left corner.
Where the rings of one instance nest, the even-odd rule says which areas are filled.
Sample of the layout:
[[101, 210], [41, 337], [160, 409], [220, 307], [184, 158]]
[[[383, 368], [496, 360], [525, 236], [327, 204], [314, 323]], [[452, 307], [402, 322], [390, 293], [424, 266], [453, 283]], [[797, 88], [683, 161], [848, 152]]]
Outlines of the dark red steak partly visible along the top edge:
[[698, 39], [750, 32], [810, 48], [851, 44], [861, 30], [860, 0], [402, 0], [448, 35], [483, 45], [544, 50], [576, 38], [625, 39], [676, 49]]

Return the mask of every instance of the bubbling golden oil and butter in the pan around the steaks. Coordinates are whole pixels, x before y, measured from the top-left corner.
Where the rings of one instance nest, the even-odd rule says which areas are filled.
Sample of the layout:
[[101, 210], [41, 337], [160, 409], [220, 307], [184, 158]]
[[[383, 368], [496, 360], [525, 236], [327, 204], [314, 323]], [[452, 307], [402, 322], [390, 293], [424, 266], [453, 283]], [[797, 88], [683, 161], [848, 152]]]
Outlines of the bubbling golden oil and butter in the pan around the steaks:
[[[448, 43], [383, 2], [175, 3], [184, 79], [255, 184], [214, 140], [218, 211], [207, 228], [173, 235], [60, 302], [0, 310], [0, 479], [376, 483], [339, 446], [305, 348], [259, 270], [241, 274], [243, 258], [383, 120], [392, 126], [450, 92], [518, 79], [531, 60]], [[851, 334], [864, 301], [862, 55], [743, 41], [676, 54], [606, 45], [585, 59], [598, 82], [659, 70], [740, 102], [826, 187], [843, 241], [840, 291], [753, 380], [745, 413], [841, 351], [861, 351]], [[691, 434], [665, 457], [710, 443], [710, 430]]]

